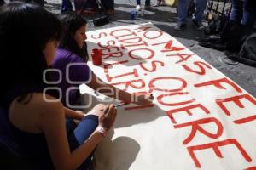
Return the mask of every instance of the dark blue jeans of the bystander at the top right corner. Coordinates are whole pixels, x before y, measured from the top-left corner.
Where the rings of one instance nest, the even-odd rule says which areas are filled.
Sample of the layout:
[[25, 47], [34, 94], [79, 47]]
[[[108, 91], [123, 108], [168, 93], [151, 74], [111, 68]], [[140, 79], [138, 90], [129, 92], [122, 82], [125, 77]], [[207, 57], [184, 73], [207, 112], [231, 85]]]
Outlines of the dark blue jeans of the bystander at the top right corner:
[[[254, 1], [254, 0], [253, 0]], [[232, 0], [230, 19], [245, 26], [253, 26], [255, 12], [249, 0]]]

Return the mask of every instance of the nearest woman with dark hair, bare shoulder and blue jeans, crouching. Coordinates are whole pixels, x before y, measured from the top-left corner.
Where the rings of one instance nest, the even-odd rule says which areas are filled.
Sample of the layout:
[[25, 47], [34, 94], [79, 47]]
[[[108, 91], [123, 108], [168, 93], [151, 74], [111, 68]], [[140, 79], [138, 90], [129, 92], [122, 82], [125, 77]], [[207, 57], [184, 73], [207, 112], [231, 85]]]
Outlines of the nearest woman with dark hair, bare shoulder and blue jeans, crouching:
[[[16, 2], [0, 8], [0, 148], [26, 158], [33, 169], [88, 169], [116, 110], [96, 105], [84, 116], [48, 93], [44, 73], [60, 37], [61, 22], [42, 7]], [[68, 133], [65, 117], [80, 121]], [[0, 151], [1, 162], [9, 152]]]

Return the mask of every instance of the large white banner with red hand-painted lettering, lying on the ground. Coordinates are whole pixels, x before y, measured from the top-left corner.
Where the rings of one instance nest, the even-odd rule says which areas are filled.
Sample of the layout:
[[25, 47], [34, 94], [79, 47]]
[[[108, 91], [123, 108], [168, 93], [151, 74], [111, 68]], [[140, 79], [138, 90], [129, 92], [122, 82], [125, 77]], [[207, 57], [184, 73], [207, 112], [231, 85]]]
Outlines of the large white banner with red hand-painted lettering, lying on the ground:
[[[96, 170], [253, 169], [256, 99], [150, 23], [87, 32], [88, 65], [103, 81], [154, 104], [119, 108], [96, 149]], [[91, 59], [90, 59], [91, 60]]]

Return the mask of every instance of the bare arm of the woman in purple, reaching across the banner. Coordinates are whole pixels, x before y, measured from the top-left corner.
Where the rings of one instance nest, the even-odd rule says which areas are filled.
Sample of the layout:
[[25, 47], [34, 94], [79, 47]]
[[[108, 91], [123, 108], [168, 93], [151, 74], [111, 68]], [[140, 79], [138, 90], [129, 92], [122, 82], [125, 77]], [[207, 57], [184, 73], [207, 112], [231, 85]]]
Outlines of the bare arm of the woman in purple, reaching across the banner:
[[152, 103], [153, 95], [140, 95], [136, 96], [134, 94], [127, 93], [119, 88], [115, 88], [110, 84], [103, 82], [99, 77], [92, 72], [91, 81], [87, 83], [90, 88], [96, 91], [106, 94], [114, 99], [122, 100], [125, 103], [136, 103], [138, 105], [149, 105]]

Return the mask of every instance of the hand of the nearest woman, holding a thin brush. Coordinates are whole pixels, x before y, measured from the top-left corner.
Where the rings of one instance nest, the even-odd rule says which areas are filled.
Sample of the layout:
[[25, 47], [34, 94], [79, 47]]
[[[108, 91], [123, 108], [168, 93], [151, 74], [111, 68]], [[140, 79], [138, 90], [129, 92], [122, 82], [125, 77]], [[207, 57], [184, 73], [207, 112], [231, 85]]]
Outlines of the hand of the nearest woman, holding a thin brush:
[[113, 104], [107, 105], [102, 111], [102, 115], [99, 116], [99, 126], [103, 127], [107, 132], [113, 126], [117, 110], [113, 107]]

